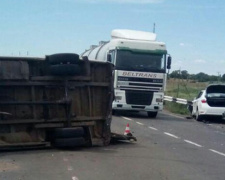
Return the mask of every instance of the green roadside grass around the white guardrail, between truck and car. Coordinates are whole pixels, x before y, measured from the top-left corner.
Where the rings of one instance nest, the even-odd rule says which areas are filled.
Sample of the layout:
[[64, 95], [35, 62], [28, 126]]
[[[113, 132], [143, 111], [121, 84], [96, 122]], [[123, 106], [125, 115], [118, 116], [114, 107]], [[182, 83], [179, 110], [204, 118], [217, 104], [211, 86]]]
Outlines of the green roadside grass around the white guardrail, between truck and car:
[[[208, 83], [185, 81], [179, 79], [169, 79], [165, 95], [175, 98], [182, 98], [192, 101], [200, 90], [205, 89]], [[164, 108], [172, 113], [187, 115], [187, 105], [165, 101]]]

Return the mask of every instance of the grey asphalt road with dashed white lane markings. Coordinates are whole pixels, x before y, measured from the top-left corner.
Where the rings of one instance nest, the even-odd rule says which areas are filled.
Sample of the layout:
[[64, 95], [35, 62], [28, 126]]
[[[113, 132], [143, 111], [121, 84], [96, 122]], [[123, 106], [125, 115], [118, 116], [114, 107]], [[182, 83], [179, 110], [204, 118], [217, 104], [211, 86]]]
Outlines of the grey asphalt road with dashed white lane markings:
[[136, 143], [0, 153], [0, 180], [225, 179], [225, 123], [124, 113], [112, 130], [123, 133], [127, 123]]

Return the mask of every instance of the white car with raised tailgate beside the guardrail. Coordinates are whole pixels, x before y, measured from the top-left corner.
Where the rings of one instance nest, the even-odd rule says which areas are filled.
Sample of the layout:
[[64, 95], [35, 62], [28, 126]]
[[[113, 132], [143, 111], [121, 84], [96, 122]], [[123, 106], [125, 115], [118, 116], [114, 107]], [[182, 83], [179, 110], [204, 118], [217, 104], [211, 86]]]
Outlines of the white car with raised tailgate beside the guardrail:
[[225, 112], [225, 85], [209, 85], [193, 100], [192, 116], [197, 121], [221, 117]]

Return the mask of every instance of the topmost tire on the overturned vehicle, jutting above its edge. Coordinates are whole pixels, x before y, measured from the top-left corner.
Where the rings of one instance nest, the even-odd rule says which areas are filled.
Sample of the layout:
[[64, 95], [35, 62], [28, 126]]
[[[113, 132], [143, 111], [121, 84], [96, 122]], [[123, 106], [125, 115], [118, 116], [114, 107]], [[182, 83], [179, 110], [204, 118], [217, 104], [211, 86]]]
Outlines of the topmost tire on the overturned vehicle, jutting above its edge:
[[51, 65], [56, 64], [77, 64], [79, 62], [79, 55], [73, 53], [60, 53], [47, 56]]

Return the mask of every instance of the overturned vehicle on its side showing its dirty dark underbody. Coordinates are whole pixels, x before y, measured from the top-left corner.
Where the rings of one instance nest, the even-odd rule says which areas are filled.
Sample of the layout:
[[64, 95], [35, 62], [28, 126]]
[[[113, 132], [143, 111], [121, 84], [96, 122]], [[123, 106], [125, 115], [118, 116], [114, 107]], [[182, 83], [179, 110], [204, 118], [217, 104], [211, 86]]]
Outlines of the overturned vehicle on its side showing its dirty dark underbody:
[[109, 144], [112, 69], [76, 54], [0, 57], [0, 150]]

